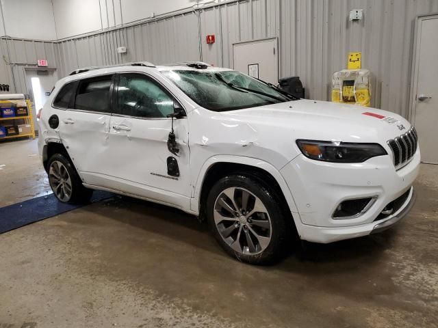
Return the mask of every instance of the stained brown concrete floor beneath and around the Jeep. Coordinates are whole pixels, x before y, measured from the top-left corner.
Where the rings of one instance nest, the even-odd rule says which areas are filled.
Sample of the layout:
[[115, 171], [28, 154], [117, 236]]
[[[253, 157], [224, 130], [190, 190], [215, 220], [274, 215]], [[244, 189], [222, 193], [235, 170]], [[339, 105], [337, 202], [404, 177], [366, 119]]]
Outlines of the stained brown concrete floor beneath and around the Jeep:
[[[0, 143], [0, 206], [47, 191], [34, 153], [35, 141]], [[1, 234], [0, 327], [438, 327], [438, 166], [422, 165], [415, 187], [396, 228], [273, 267], [236, 262], [195, 217], [127, 197]]]

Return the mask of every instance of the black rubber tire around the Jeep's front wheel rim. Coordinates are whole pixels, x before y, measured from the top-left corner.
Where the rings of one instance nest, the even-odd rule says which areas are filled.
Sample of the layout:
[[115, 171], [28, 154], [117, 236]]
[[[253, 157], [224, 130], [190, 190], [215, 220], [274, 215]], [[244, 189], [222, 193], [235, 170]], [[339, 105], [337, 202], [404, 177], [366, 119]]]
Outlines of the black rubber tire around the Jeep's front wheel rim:
[[[230, 187], [241, 187], [247, 189], [259, 197], [261, 202], [263, 202], [263, 205], [266, 207], [266, 210], [268, 210], [271, 221], [271, 241], [268, 247], [259, 254], [244, 255], [234, 251], [224, 242], [216, 228], [216, 223], [214, 222], [214, 203], [216, 202], [218, 195], [220, 195], [224, 189]], [[224, 176], [211, 188], [207, 197], [206, 210], [207, 221], [214, 237], [222, 248], [237, 260], [250, 264], [271, 264], [284, 255], [285, 242], [288, 234], [284, 210], [281, 208], [279, 197], [277, 197], [274, 191], [271, 191], [268, 186], [259, 179], [244, 174]]]

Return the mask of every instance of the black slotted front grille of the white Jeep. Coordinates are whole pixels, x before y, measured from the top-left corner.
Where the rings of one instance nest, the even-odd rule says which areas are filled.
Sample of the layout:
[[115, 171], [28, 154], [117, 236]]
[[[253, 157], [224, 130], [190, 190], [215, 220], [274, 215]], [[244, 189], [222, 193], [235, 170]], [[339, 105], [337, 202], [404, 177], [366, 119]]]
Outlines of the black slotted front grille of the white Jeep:
[[404, 135], [388, 141], [388, 145], [394, 154], [394, 165], [396, 169], [404, 166], [409, 162], [417, 151], [418, 136], [415, 128], [412, 127]]

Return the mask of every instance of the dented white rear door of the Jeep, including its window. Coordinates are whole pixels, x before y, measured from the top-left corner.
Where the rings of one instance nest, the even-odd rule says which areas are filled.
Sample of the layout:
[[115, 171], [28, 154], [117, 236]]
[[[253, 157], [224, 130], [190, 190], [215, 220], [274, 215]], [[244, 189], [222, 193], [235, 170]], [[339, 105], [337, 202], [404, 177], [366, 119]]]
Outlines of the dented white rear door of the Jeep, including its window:
[[111, 173], [105, 163], [112, 157], [108, 134], [114, 77], [105, 74], [73, 82], [75, 94], [68, 108], [59, 111], [60, 137], [77, 171], [84, 182], [102, 187], [109, 185]]

